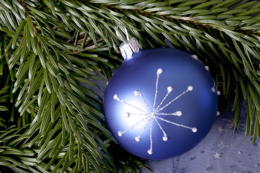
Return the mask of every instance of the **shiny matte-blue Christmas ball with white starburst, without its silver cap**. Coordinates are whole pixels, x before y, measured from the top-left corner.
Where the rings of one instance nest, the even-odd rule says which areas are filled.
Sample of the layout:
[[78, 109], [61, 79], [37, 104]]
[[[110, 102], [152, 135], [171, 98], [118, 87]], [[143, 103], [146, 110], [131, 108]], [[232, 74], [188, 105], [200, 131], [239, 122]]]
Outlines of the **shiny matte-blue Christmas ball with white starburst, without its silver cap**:
[[140, 50], [125, 59], [104, 94], [108, 129], [128, 152], [160, 160], [201, 142], [217, 114], [208, 67], [174, 48]]

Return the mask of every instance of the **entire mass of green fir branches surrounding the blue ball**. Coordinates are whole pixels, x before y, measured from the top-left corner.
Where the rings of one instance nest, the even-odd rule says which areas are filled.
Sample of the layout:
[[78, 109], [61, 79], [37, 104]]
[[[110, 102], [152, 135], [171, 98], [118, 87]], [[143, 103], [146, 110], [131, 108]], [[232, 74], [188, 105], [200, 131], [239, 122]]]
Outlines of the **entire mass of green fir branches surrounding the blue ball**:
[[[254, 142], [259, 16], [260, 2], [249, 0], [0, 1], [0, 165], [15, 172], [115, 171], [102, 98], [91, 88], [122, 62], [118, 25], [145, 48], [174, 46], [198, 55], [222, 92], [219, 108], [233, 103], [235, 128], [248, 99], [246, 134]], [[123, 170], [143, 165], [126, 160], [133, 165], [122, 164]]]

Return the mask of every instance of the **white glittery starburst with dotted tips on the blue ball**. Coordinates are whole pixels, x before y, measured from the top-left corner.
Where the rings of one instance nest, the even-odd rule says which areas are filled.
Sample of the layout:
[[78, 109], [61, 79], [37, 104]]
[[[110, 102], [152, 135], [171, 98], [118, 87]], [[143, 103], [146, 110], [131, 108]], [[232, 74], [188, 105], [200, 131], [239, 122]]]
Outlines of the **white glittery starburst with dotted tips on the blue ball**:
[[176, 101], [177, 99], [179, 99], [181, 96], [183, 96], [184, 94], [186, 94], [187, 92], [189, 91], [192, 91], [193, 90], [193, 87], [192, 86], [188, 86], [186, 90], [184, 90], [182, 93], [180, 93], [177, 97], [173, 98], [172, 100], [170, 100], [168, 103], [164, 104], [164, 101], [166, 100], [166, 98], [168, 98], [168, 96], [170, 95], [171, 91], [173, 90], [173, 87], [167, 87], [167, 93], [166, 95], [164, 96], [164, 98], [161, 100], [161, 102], [158, 104], [158, 106], [156, 106], [156, 101], [157, 101], [157, 95], [158, 95], [158, 85], [159, 85], [159, 77], [160, 75], [162, 74], [162, 69], [159, 68], [157, 69], [157, 72], [156, 72], [156, 91], [155, 91], [155, 99], [154, 99], [154, 104], [153, 104], [153, 108], [151, 108], [145, 98], [143, 97], [142, 95], [142, 92], [140, 90], [135, 90], [134, 91], [134, 95], [135, 96], [139, 96], [144, 105], [147, 107], [147, 110], [148, 111], [145, 111], [137, 106], [134, 106], [124, 100], [122, 100], [119, 95], [117, 94], [114, 94], [114, 99], [116, 101], [120, 101], [134, 109], [137, 109], [139, 110], [141, 113], [130, 113], [130, 112], [125, 112], [125, 116], [126, 117], [130, 117], [130, 116], [144, 116], [143, 119], [141, 119], [139, 122], [137, 122], [136, 124], [134, 124], [133, 126], [131, 126], [130, 128], [126, 129], [126, 130], [123, 130], [123, 131], [118, 131], [118, 136], [122, 136], [124, 133], [128, 132], [129, 130], [132, 130], [134, 129], [136, 126], [140, 125], [142, 122], [144, 122], [145, 120], [147, 120], [144, 128], [141, 130], [141, 132], [139, 133], [138, 136], [135, 137], [135, 140], [137, 142], [139, 142], [141, 139], [142, 139], [142, 134], [144, 133], [144, 131], [149, 127], [150, 125], [150, 149], [147, 151], [148, 154], [152, 155], [153, 154], [153, 127], [154, 125], [157, 125], [159, 127], [159, 129], [161, 130], [161, 132], [163, 133], [163, 136], [162, 136], [162, 140], [163, 141], [167, 141], [168, 140], [168, 136], [166, 134], [166, 132], [163, 130], [162, 126], [160, 125], [160, 121], [162, 122], [166, 122], [166, 123], [169, 123], [171, 125], [174, 125], [174, 126], [178, 126], [178, 127], [182, 127], [182, 128], [186, 128], [186, 129], [190, 129], [192, 130], [193, 132], [197, 132], [197, 128], [195, 127], [189, 127], [189, 126], [185, 126], [185, 125], [182, 125], [182, 124], [178, 124], [178, 123], [174, 123], [172, 121], [169, 121], [169, 120], [166, 120], [162, 117], [164, 116], [182, 116], [182, 112], [181, 111], [176, 111], [176, 112], [173, 112], [173, 113], [164, 113], [163, 110], [170, 106], [174, 101]]

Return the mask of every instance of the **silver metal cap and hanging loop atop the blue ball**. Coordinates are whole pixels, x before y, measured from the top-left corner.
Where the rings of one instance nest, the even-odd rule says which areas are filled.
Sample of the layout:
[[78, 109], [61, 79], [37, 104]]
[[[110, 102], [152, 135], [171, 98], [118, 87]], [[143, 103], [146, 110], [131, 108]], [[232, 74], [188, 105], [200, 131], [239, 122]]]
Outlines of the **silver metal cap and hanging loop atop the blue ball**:
[[122, 39], [121, 35], [118, 32], [118, 27], [116, 27], [115, 31], [116, 31], [116, 35], [118, 36], [118, 38], [123, 41], [123, 43], [120, 44], [119, 48], [120, 48], [120, 52], [121, 55], [123, 56], [124, 59], [130, 58], [132, 57], [133, 53], [138, 53], [140, 49], [142, 49], [141, 44], [137, 41], [136, 38], [128, 38], [128, 32], [127, 29], [120, 25], [125, 32], [126, 38], [127, 40]]

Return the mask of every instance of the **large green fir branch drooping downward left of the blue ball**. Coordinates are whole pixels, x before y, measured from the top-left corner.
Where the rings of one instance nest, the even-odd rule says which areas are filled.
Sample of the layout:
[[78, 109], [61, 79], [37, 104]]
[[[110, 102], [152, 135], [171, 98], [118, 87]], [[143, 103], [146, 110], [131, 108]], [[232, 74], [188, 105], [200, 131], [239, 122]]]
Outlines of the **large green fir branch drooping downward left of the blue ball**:
[[[79, 87], [82, 83], [96, 87], [91, 81], [100, 80], [95, 72], [100, 69], [97, 62], [107, 62], [105, 54], [99, 56], [98, 52], [107, 48], [102, 40], [97, 42], [100, 47], [97, 49], [91, 42], [86, 43], [88, 37], [84, 36], [85, 33], [82, 48], [78, 47], [77, 41], [76, 45], [71, 43], [72, 40], [64, 41], [61, 39], [64, 36], [69, 39], [73, 37], [55, 30], [52, 21], [38, 20], [31, 16], [31, 12], [25, 11], [27, 14], [21, 21], [8, 21], [17, 28], [14, 28], [16, 31], [12, 33], [10, 42], [3, 41], [6, 44], [3, 51], [8, 52], [9, 57], [8, 68], [15, 71], [12, 92], [16, 94], [16, 114], [25, 120], [32, 118], [29, 122], [23, 122], [23, 126], [30, 124], [30, 128], [22, 134], [24, 142], [18, 146], [37, 150], [37, 166], [48, 163], [44, 164], [43, 170], [114, 171], [112, 158], [103, 142], [111, 135], [104, 128], [104, 123], [100, 123], [104, 119], [101, 114], [102, 99], [90, 89]], [[64, 25], [57, 21], [57, 26]], [[36, 26], [39, 29], [33, 29]], [[1, 28], [6, 31], [8, 25]], [[46, 33], [49, 29], [53, 34], [50, 38], [46, 37], [50, 34], [50, 31]], [[80, 34], [76, 30], [70, 32]], [[85, 50], [89, 53], [77, 55]], [[25, 136], [32, 137], [26, 139]], [[11, 145], [4, 138], [2, 140]], [[56, 150], [59, 152], [56, 153]], [[12, 166], [5, 166], [15, 171]]]

